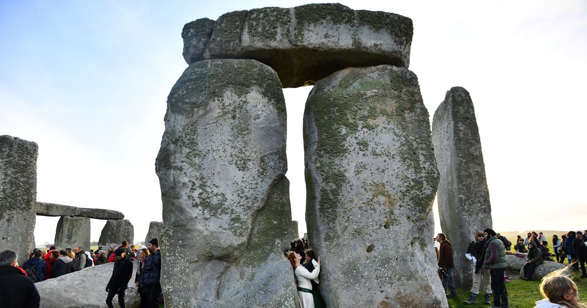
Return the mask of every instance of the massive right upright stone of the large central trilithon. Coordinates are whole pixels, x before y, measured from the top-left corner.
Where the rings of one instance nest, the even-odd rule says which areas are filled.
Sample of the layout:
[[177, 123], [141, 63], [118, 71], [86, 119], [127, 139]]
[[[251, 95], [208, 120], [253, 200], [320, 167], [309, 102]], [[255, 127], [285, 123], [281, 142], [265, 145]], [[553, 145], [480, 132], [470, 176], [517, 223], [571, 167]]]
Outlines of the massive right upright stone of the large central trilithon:
[[436, 273], [438, 172], [414, 73], [381, 65], [320, 80], [303, 119], [306, 224], [329, 307], [448, 307]]

